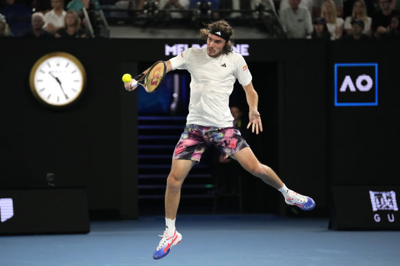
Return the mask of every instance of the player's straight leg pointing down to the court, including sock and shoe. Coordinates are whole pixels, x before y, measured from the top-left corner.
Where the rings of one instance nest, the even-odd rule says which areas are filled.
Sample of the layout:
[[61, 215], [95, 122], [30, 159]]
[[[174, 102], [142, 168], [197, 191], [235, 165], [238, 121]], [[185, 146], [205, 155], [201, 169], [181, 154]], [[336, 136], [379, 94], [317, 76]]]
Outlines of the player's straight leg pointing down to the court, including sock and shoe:
[[175, 218], [181, 198], [181, 187], [195, 161], [173, 159], [171, 172], [166, 180], [165, 221], [166, 228], [160, 243], [153, 253], [154, 259], [164, 258], [171, 248], [182, 240], [182, 235], [175, 229]]

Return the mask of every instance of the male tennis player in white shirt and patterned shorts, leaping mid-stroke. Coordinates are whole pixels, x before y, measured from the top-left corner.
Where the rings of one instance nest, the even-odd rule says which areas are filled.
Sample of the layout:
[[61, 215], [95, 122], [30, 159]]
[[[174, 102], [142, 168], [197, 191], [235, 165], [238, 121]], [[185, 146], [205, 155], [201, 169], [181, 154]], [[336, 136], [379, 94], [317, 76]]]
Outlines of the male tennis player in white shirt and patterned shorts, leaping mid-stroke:
[[[200, 161], [201, 155], [211, 144], [227, 158], [238, 161], [245, 170], [262, 179], [266, 184], [282, 192], [287, 204], [304, 211], [314, 209], [312, 198], [288, 189], [275, 172], [263, 165], [253, 154], [240, 131], [233, 127], [234, 118], [229, 109], [229, 95], [236, 79], [242, 84], [249, 104], [251, 132], [262, 131], [258, 108], [258, 94], [251, 83], [251, 74], [242, 55], [232, 51], [230, 40], [233, 30], [226, 21], [217, 21], [200, 30], [207, 40], [207, 47], [189, 48], [166, 62], [166, 71], [186, 69], [190, 72], [190, 103], [186, 128], [173, 152], [171, 172], [166, 181], [165, 220], [166, 229], [153, 258], [163, 258], [182, 240], [175, 229], [181, 186], [190, 169]], [[136, 79], [146, 74], [148, 70]], [[125, 83], [132, 91], [131, 81]]]

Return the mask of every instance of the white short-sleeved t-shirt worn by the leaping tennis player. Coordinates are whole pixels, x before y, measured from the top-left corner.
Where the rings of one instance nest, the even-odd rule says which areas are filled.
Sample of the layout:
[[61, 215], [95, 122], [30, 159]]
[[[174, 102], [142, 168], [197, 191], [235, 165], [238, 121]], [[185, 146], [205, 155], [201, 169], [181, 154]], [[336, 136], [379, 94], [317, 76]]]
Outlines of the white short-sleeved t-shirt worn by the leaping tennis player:
[[238, 79], [249, 85], [251, 74], [242, 55], [232, 52], [210, 57], [207, 47], [192, 47], [170, 59], [173, 70], [190, 72], [190, 103], [187, 124], [205, 127], [232, 127], [229, 96]]

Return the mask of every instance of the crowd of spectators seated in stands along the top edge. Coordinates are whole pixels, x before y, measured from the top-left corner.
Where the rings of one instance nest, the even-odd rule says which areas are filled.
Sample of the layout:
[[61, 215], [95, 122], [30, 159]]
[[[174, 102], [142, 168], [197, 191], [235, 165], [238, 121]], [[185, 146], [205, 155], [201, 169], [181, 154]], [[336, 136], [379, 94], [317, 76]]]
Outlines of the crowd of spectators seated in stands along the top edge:
[[83, 11], [110, 3], [117, 9], [136, 10], [136, 15], [151, 3], [175, 19], [185, 15], [179, 11], [206, 4], [208, 12], [214, 10], [212, 18], [227, 21], [255, 17], [262, 5], [273, 10], [288, 39], [400, 38], [400, 0], [0, 0], [0, 37], [88, 38]]

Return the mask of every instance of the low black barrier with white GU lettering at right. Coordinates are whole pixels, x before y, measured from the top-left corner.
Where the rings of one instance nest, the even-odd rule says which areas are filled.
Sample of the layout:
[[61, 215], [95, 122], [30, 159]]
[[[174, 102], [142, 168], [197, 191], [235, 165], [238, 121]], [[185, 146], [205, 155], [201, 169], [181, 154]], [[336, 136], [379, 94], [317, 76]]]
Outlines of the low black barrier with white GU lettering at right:
[[329, 228], [399, 230], [399, 186], [334, 186]]

